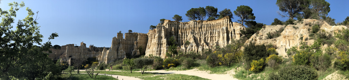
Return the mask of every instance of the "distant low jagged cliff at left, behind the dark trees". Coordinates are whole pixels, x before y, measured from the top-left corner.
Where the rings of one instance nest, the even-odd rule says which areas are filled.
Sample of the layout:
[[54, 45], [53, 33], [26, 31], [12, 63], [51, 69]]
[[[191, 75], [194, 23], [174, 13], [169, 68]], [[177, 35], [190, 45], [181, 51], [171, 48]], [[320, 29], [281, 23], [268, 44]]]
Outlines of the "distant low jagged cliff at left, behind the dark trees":
[[50, 49], [52, 53], [50, 53], [49, 57], [53, 60], [61, 59], [62, 61], [70, 63], [68, 60], [70, 58], [74, 59], [75, 54], [82, 53], [87, 57], [96, 57], [99, 53], [101, 53], [98, 48], [94, 46], [86, 47], [86, 44], [81, 42], [80, 46], [75, 47], [74, 44], [67, 44], [61, 46], [60, 49]]

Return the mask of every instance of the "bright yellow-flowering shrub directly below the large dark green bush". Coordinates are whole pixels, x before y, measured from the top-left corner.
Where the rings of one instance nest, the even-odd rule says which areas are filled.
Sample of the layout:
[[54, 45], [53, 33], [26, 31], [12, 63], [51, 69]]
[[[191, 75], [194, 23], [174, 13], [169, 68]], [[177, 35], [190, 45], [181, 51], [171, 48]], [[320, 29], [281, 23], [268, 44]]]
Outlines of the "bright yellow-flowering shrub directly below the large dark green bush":
[[264, 65], [265, 65], [265, 61], [263, 59], [260, 59], [258, 61], [252, 60], [250, 71], [260, 72], [264, 69], [265, 67]]

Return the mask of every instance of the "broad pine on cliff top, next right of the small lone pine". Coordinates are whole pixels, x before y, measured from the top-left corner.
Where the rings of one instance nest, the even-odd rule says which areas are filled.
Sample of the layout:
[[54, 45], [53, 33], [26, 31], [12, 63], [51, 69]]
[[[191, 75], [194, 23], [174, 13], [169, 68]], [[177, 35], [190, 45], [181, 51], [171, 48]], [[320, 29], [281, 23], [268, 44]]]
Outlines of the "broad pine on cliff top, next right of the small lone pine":
[[187, 11], [185, 16], [187, 16], [189, 20], [203, 20], [203, 18], [206, 17], [206, 10], [203, 7], [192, 8]]

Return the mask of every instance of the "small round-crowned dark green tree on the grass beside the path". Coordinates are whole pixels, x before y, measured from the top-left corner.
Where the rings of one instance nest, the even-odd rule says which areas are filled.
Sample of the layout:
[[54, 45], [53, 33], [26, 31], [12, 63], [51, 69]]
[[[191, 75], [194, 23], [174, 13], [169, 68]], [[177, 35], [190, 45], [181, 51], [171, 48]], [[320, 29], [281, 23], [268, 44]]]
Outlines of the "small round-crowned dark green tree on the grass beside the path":
[[147, 70], [149, 65], [152, 65], [154, 63], [154, 59], [149, 58], [137, 58], [134, 60], [134, 63], [138, 68], [141, 68], [141, 73], [143, 74], [144, 71]]

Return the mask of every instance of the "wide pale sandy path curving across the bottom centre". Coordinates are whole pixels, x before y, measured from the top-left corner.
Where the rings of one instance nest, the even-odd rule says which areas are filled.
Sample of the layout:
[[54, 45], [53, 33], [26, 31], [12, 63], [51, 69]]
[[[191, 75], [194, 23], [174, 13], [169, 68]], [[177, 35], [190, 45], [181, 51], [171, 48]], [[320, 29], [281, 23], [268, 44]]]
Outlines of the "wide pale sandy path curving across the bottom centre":
[[[138, 72], [138, 71], [137, 71]], [[157, 72], [157, 73], [169, 73], [169, 74], [186, 74], [194, 75], [201, 78], [211, 79], [211, 80], [238, 80], [233, 78], [229, 74], [209, 74], [206, 71], [200, 71], [198, 69], [185, 70], [185, 71], [165, 71], [165, 70], [156, 70], [156, 71], [145, 71], [145, 72]]]

